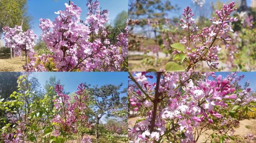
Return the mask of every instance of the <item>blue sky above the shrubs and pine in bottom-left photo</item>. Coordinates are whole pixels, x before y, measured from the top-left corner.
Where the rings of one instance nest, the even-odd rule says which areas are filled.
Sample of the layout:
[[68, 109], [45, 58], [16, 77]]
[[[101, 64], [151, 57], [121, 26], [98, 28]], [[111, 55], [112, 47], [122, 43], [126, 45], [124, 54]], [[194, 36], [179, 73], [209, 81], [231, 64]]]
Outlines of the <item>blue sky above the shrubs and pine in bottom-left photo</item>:
[[46, 79], [55, 76], [56, 79], [60, 79], [65, 91], [70, 93], [76, 92], [77, 85], [85, 82], [92, 86], [123, 83], [122, 89], [128, 87], [127, 72], [33, 72], [31, 76], [37, 77], [42, 88]]

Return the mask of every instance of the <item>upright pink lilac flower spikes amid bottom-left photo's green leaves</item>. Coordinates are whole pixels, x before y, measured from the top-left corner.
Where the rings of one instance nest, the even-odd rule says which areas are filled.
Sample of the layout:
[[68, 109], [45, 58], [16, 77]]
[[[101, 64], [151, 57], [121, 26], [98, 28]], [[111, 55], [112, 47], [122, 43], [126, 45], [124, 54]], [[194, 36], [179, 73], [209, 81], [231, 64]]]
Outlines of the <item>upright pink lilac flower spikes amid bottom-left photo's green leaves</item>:
[[77, 122], [83, 121], [86, 123], [85, 105], [87, 95], [85, 94], [85, 86], [81, 83], [77, 86], [77, 92], [74, 96], [75, 102], [70, 103], [70, 96], [63, 93], [63, 86], [56, 85], [55, 91], [57, 98], [54, 101], [54, 107], [58, 111], [55, 118], [52, 120], [55, 125], [54, 135], [59, 136], [60, 131], [65, 133], [77, 133]]

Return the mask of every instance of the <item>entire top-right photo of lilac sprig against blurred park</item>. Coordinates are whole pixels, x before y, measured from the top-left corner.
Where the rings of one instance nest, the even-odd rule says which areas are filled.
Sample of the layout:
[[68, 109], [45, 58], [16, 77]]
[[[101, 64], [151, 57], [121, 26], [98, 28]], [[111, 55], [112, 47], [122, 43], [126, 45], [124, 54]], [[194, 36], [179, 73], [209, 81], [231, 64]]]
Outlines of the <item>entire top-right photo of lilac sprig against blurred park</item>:
[[255, 3], [129, 0], [129, 71], [255, 71]]

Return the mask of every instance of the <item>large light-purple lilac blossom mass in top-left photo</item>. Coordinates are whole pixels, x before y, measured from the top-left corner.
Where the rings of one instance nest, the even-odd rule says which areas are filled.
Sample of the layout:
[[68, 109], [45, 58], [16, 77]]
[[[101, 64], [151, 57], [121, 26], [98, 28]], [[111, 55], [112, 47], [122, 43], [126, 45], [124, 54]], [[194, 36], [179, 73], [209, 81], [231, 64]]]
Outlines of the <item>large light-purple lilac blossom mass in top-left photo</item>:
[[[64, 11], [54, 22], [40, 19], [42, 39], [54, 53], [53, 61], [59, 71], [120, 71], [124, 58], [128, 56], [128, 28], [116, 38], [117, 44], [110, 45], [108, 10], [100, 10], [100, 3], [88, 0], [85, 22], [80, 19], [82, 10], [73, 2], [65, 4]], [[120, 50], [121, 49], [121, 50]]]

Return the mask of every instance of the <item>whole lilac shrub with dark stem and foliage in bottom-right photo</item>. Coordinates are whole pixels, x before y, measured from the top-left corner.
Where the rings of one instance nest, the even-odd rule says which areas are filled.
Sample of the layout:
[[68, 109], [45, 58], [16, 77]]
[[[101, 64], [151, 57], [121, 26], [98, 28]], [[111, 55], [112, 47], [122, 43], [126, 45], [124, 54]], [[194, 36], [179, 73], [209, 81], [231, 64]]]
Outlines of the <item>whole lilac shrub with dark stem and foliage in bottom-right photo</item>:
[[223, 78], [214, 72], [141, 72], [129, 78], [130, 109], [141, 116], [129, 128], [133, 143], [195, 143], [207, 130], [214, 131], [212, 142], [236, 140], [234, 127], [256, 103], [252, 97], [246, 104], [236, 102], [250, 91], [238, 86], [242, 77], [236, 73]]

